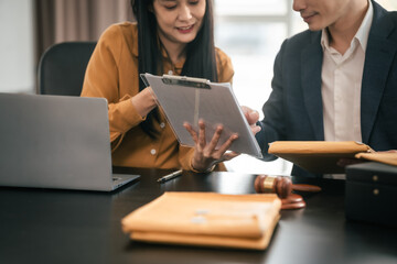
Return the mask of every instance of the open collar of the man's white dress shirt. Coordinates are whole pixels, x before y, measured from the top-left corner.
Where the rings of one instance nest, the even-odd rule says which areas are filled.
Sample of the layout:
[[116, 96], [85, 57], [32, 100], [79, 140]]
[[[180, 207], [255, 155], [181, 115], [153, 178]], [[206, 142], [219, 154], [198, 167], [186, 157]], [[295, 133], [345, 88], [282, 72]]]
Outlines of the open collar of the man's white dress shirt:
[[[358, 31], [356, 32], [356, 34], [354, 35], [354, 37], [352, 40], [352, 43], [355, 40], [357, 40], [364, 52], [366, 51], [366, 46], [368, 43], [368, 35], [369, 35], [369, 30], [371, 30], [373, 18], [374, 18], [374, 8], [372, 4], [372, 1], [369, 0], [368, 1], [368, 10], [364, 16], [362, 24], [358, 28]], [[322, 46], [323, 51], [325, 48], [330, 48], [330, 37], [329, 37], [329, 31], [326, 28], [323, 29], [322, 33], [321, 33], [321, 46]]]

